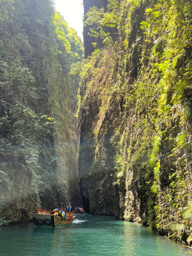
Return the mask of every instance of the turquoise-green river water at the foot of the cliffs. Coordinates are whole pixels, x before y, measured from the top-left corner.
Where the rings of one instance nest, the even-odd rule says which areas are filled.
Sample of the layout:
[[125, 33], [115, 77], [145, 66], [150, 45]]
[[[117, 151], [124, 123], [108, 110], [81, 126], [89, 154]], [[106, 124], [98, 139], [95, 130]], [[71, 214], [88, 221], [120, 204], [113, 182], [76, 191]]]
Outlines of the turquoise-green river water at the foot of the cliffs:
[[66, 227], [28, 223], [0, 228], [0, 256], [192, 256], [192, 250], [141, 224], [110, 216], [76, 216]]

